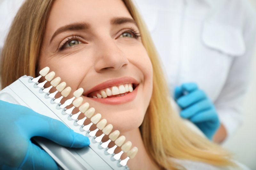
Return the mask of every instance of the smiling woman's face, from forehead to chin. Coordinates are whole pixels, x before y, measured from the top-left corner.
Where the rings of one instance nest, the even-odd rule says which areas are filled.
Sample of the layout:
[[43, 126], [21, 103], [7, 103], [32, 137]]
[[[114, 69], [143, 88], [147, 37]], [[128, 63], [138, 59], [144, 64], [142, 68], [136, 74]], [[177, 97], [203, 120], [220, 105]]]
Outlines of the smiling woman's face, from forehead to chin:
[[[125, 132], [142, 123], [152, 64], [123, 1], [56, 0], [39, 58], [40, 69], [46, 66], [72, 88], [68, 98], [84, 88], [84, 102], [115, 129]], [[127, 85], [132, 92], [124, 90]]]

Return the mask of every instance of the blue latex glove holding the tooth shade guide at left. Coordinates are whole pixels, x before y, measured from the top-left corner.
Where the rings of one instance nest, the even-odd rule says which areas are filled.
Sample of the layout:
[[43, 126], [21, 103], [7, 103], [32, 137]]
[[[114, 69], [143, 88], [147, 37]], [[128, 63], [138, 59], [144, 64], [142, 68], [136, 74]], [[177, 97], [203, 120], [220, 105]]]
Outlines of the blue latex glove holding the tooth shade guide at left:
[[0, 169], [59, 169], [52, 157], [30, 140], [40, 136], [66, 147], [90, 144], [62, 122], [28, 107], [0, 100]]

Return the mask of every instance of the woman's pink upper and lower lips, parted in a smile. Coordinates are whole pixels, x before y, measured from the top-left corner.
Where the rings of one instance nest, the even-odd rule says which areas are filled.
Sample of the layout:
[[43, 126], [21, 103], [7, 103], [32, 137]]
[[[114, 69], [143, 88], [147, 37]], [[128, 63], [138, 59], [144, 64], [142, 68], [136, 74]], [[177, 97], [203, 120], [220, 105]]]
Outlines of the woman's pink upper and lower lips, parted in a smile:
[[90, 99], [95, 100], [100, 103], [111, 104], [111, 105], [116, 105], [116, 104], [121, 104], [121, 103], [132, 101], [137, 95], [138, 81], [131, 77], [116, 78], [116, 79], [111, 79], [111, 80], [105, 81], [103, 83], [100, 83], [99, 85], [96, 85], [92, 89], [85, 92], [84, 96], [87, 96], [91, 92], [99, 91], [99, 90], [107, 88], [107, 87], [118, 86], [118, 85], [123, 85], [123, 84], [133, 84], [136, 88], [133, 90], [133, 92], [129, 92], [128, 94], [126, 94], [124, 96], [120, 96], [120, 97], [90, 98]]

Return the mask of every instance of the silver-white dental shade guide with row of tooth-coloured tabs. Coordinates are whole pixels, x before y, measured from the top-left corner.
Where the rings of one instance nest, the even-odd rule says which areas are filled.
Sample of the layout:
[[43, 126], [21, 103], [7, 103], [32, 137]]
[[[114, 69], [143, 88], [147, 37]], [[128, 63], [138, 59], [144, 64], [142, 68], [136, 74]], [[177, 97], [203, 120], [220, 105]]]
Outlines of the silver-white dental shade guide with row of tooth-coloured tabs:
[[[29, 107], [37, 113], [63, 122], [76, 133], [89, 137], [90, 145], [79, 150], [62, 147], [50, 140], [34, 137], [35, 141], [48, 154], [50, 154], [61, 169], [129, 169], [126, 162], [128, 159], [133, 157], [135, 152], [132, 151], [128, 154], [128, 150], [132, 145], [131, 142], [128, 141], [123, 144], [125, 137], [118, 137], [120, 134], [118, 130], [115, 130], [110, 134], [113, 126], [111, 124], [106, 126], [107, 120], [101, 119], [101, 114], [97, 113], [94, 115], [95, 109], [93, 107], [89, 108], [89, 103], [82, 104], [83, 98], [80, 97], [84, 92], [82, 88], [73, 93], [74, 97], [69, 99], [70, 104], [65, 104], [65, 102], [65, 105], [61, 104], [61, 99], [70, 94], [71, 88], [66, 87], [65, 82], [60, 83], [60, 78], [54, 78], [55, 73], [53, 71], [48, 73], [49, 70], [49, 67], [42, 69], [39, 72], [40, 76], [37, 78], [22, 76], [11, 85], [0, 91], [0, 100]], [[52, 87], [50, 86], [48, 88], [44, 88], [45, 82], [38, 84], [38, 80], [43, 76], [45, 77], [46, 82], [51, 81], [51, 86], [56, 88], [55, 92], [50, 94], [49, 90]], [[61, 92], [61, 97], [55, 99], [54, 97], [58, 92]], [[71, 108], [65, 108], [68, 105], [71, 105], [71, 103], [73, 105]], [[61, 106], [65, 107], [61, 108]], [[79, 109], [79, 112], [72, 114], [75, 107]], [[81, 117], [79, 116], [81, 113], [83, 113], [85, 116], [84, 118], [79, 118], [80, 120], [78, 120], [78, 117]], [[86, 118], [90, 118], [91, 123], [84, 126], [84, 121]], [[96, 124], [97, 129], [90, 131], [92, 124]], [[102, 131], [102, 133], [99, 133], [101, 135], [96, 136], [96, 133], [99, 131]], [[105, 135], [108, 135], [109, 140], [103, 143], [102, 138]], [[113, 141], [116, 145], [108, 149], [108, 144], [111, 141]], [[117, 154], [112, 154], [116, 147], [121, 147], [122, 151]], [[127, 152], [128, 157], [124, 160], [120, 160], [122, 152], [124, 151]], [[121, 162], [124, 166], [120, 164]]]

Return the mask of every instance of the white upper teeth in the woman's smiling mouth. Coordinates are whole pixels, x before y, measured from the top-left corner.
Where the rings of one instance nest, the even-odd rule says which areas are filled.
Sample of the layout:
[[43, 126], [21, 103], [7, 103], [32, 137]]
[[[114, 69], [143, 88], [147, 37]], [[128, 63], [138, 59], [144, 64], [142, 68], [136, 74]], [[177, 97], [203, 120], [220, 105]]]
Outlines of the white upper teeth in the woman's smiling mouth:
[[[93, 96], [93, 98], [106, 98], [108, 96], [117, 95], [117, 94], [126, 94], [127, 92], [132, 92], [132, 84], [124, 84], [119, 86], [108, 87], [102, 89]], [[119, 96], [119, 95], [118, 95]], [[122, 95], [123, 96], [123, 95]]]

